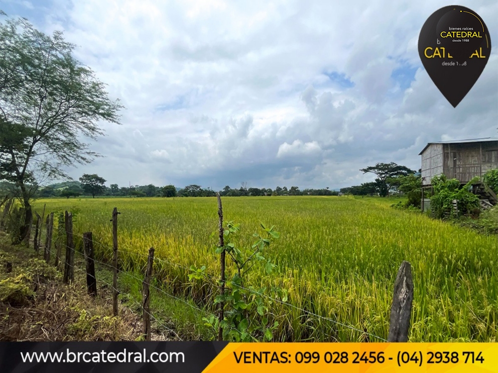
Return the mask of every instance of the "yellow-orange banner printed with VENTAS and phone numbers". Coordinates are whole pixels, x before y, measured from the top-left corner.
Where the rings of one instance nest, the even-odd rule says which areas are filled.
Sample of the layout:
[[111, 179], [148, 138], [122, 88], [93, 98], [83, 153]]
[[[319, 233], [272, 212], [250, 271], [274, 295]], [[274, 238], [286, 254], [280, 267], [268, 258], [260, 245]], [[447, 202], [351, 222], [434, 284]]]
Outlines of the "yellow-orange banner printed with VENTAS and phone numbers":
[[498, 372], [498, 344], [229, 343], [203, 372]]

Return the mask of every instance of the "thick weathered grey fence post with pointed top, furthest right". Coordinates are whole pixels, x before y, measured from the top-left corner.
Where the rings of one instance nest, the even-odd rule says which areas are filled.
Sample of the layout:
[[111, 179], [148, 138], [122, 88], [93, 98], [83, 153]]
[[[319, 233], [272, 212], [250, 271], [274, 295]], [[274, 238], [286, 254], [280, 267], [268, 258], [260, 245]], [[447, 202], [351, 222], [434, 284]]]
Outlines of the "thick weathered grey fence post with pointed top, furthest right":
[[394, 281], [388, 342], [407, 342], [413, 302], [413, 280], [410, 263], [403, 261]]

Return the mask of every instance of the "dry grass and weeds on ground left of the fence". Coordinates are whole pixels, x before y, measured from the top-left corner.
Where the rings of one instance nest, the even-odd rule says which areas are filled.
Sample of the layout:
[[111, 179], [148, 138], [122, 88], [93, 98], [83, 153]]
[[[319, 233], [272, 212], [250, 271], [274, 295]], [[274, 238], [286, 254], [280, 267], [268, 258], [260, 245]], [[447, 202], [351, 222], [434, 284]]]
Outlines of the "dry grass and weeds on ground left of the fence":
[[[141, 316], [124, 305], [112, 316], [111, 289], [86, 292], [85, 274], [72, 285], [32, 250], [12, 247], [0, 232], [0, 341], [132, 341], [140, 339]], [[7, 272], [6, 263], [12, 264]], [[79, 264], [80, 268], [82, 267]], [[170, 340], [154, 328], [153, 340]]]

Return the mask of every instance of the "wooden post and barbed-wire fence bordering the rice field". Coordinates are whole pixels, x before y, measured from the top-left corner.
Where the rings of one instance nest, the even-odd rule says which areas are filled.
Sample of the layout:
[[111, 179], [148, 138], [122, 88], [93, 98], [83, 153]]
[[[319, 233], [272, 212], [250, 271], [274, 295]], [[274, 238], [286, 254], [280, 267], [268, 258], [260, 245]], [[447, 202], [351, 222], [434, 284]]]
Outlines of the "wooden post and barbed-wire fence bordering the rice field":
[[[4, 210], [3, 214], [0, 215], [1, 220], [0, 220], [0, 227], [4, 227], [4, 219], [8, 215], [8, 211], [11, 207], [11, 202], [8, 203], [4, 201]], [[222, 212], [222, 207], [221, 207], [221, 199], [218, 196], [218, 206], [219, 206], [219, 216], [220, 220], [222, 221], [223, 219], [223, 212]], [[183, 299], [177, 298], [176, 296], [167, 293], [163, 289], [154, 286], [152, 282], [153, 278], [153, 263], [154, 260], [159, 260], [159, 258], [154, 258], [154, 248], [151, 247], [148, 250], [148, 256], [147, 256], [147, 261], [146, 261], [146, 266], [143, 270], [143, 278], [139, 279], [136, 276], [127, 273], [127, 272], [122, 272], [119, 269], [119, 246], [118, 246], [118, 215], [120, 212], [118, 212], [118, 209], [115, 207], [112, 212], [112, 234], [113, 234], [113, 258], [112, 263], [104, 263], [101, 261], [98, 261], [94, 258], [94, 240], [92, 237], [92, 232], [85, 232], [83, 233], [83, 248], [82, 252], [79, 252], [75, 250], [75, 245], [74, 245], [74, 236], [73, 236], [73, 216], [71, 212], [65, 211], [64, 214], [60, 214], [58, 216], [58, 229], [57, 229], [57, 237], [55, 242], [53, 242], [53, 228], [54, 228], [54, 212], [51, 212], [47, 214], [47, 217], [45, 219], [45, 224], [46, 224], [46, 233], [45, 233], [45, 244], [43, 245], [43, 258], [44, 260], [49, 263], [51, 259], [51, 252], [52, 252], [52, 246], [54, 246], [55, 249], [55, 260], [54, 260], [54, 265], [59, 268], [61, 264], [61, 249], [64, 247], [65, 248], [65, 255], [64, 255], [64, 263], [63, 263], [63, 282], [66, 284], [69, 284], [71, 282], [74, 282], [74, 270], [82, 271], [86, 274], [86, 284], [87, 284], [87, 290], [88, 294], [92, 297], [96, 297], [98, 293], [97, 289], [97, 278], [95, 274], [95, 263], [99, 263], [103, 266], [108, 267], [112, 272], [113, 272], [113, 283], [109, 284], [104, 280], [101, 280], [104, 282], [106, 285], [108, 285], [112, 289], [112, 309], [113, 309], [113, 315], [118, 316], [119, 315], [119, 303], [118, 303], [118, 295], [120, 294], [120, 291], [118, 290], [118, 276], [129, 276], [135, 280], [141, 281], [142, 282], [142, 299], [141, 302], [138, 302], [137, 299], [134, 299], [131, 297], [131, 299], [134, 299], [137, 303], [137, 305], [140, 305], [141, 312], [142, 312], [142, 323], [143, 323], [143, 328], [142, 328], [142, 337], [144, 340], [149, 341], [151, 338], [151, 318], [154, 319], [160, 326], [171, 332], [174, 336], [175, 339], [180, 339], [179, 335], [172, 330], [171, 328], [168, 328], [161, 322], [159, 322], [158, 318], [153, 315], [150, 311], [150, 287], [155, 288], [161, 293], [166, 294], [167, 296], [176, 298], [178, 300], [181, 300], [185, 304], [189, 305], [190, 307], [196, 308], [197, 310], [206, 313], [208, 316], [214, 316], [215, 318], [223, 318], [223, 309], [220, 308], [218, 310], [219, 314], [215, 316], [213, 313], [201, 309], [199, 307], [196, 307], [188, 302], [186, 302]], [[36, 215], [36, 222], [35, 222], [35, 233], [34, 233], [34, 239], [33, 239], [33, 247], [34, 250], [38, 253], [41, 249], [41, 236], [42, 236], [42, 223], [45, 215], [45, 206], [43, 208], [43, 213], [42, 216], [40, 216], [38, 213]], [[3, 225], [2, 225], [3, 224]], [[65, 233], [65, 243], [63, 242], [63, 236]], [[102, 245], [99, 243], [99, 245]], [[219, 245], [223, 246], [223, 227], [222, 224], [220, 223], [220, 243]], [[102, 245], [104, 246], [104, 245]], [[75, 253], [78, 253], [84, 257], [85, 260], [85, 269], [80, 269], [75, 267], [74, 264], [74, 255]], [[225, 283], [225, 260], [222, 257], [221, 262], [220, 262], [220, 280], [218, 281], [219, 284], [223, 285]], [[60, 269], [60, 268], [59, 268]], [[190, 270], [190, 269], [186, 269]], [[206, 275], [209, 276], [209, 275]], [[210, 276], [212, 277], [212, 276]], [[242, 287], [242, 286], [241, 286]], [[225, 291], [225, 286], [218, 286], [220, 293]], [[245, 290], [251, 291], [247, 288], [244, 288]], [[130, 294], [128, 294], [130, 295]], [[272, 301], [275, 302], [280, 302], [283, 303], [289, 307], [297, 308], [296, 306], [286, 303], [280, 299], [274, 299], [270, 298]], [[347, 327], [353, 330], [356, 330], [358, 332], [367, 334], [373, 338], [376, 338], [380, 341], [385, 341], [385, 342], [406, 342], [408, 341], [408, 333], [409, 333], [409, 325], [410, 325], [410, 318], [411, 318], [411, 308], [412, 308], [412, 302], [413, 302], [413, 279], [412, 279], [412, 273], [411, 273], [411, 265], [410, 263], [403, 261], [401, 263], [401, 266], [398, 269], [396, 280], [394, 281], [394, 289], [393, 289], [393, 298], [392, 298], [392, 304], [391, 304], [391, 309], [390, 309], [390, 319], [389, 319], [389, 333], [387, 340], [378, 337], [376, 335], [370, 334], [366, 331], [362, 331], [358, 328], [355, 328], [352, 325], [346, 325], [343, 323], [339, 323], [336, 320], [320, 316], [314, 313], [311, 313], [309, 311], [306, 311], [304, 309], [299, 310], [303, 314], [310, 314], [322, 319], [325, 319], [327, 321], [333, 322], [337, 324], [338, 326], [343, 326]], [[220, 333], [218, 335], [218, 339], [222, 339], [222, 334]]]

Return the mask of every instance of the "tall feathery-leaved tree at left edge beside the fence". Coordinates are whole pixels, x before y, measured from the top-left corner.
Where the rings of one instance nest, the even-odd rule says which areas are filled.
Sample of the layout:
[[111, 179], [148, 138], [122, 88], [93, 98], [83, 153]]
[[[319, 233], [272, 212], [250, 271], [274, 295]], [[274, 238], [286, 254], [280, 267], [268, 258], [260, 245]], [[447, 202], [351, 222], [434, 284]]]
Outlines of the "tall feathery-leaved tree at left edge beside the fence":
[[68, 166], [98, 156], [81, 135], [96, 139], [103, 134], [98, 121], [120, 122], [123, 106], [108, 98], [104, 84], [73, 57], [73, 49], [62, 32], [45, 35], [25, 19], [0, 24], [0, 118], [9, 134], [20, 136], [15, 148], [9, 146], [10, 135], [1, 140], [1, 167], [7, 168], [1, 178], [15, 183], [24, 207], [18, 241], [32, 219], [33, 181], [70, 179], [64, 172]]

